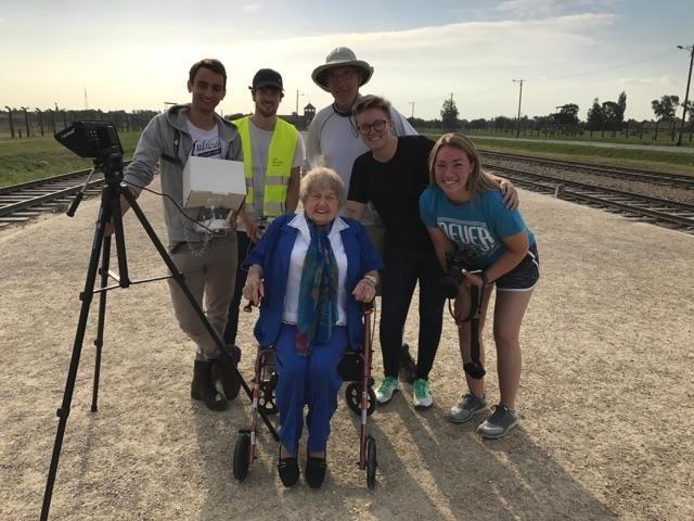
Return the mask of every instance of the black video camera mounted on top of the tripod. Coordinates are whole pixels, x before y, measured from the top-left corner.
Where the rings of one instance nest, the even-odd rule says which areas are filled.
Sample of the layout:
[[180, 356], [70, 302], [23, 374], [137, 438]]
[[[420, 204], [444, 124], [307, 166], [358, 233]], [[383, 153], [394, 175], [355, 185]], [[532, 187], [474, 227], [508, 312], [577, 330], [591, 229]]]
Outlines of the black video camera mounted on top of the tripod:
[[76, 122], [55, 132], [55, 139], [80, 157], [123, 156], [118, 131], [110, 122]]

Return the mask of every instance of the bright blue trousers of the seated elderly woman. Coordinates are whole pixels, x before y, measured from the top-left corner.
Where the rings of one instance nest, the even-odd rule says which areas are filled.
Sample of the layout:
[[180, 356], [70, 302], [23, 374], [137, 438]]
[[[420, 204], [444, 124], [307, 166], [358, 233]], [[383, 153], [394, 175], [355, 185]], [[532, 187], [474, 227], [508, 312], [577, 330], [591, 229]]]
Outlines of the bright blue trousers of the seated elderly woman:
[[314, 342], [308, 356], [296, 353], [296, 326], [282, 325], [277, 343], [279, 381], [275, 403], [280, 410], [280, 441], [296, 456], [304, 428], [304, 406], [308, 405], [308, 450], [320, 453], [327, 446], [330, 420], [337, 408], [343, 379], [337, 365], [345, 356], [346, 327], [334, 327], [331, 340]]

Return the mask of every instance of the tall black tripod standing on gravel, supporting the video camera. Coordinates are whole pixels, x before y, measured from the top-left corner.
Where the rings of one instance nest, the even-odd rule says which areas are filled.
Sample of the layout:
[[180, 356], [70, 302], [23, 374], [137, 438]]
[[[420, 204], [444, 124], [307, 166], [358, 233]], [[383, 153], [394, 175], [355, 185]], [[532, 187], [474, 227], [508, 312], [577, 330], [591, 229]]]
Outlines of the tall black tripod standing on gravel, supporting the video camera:
[[[82, 351], [82, 342], [85, 340], [85, 331], [87, 329], [87, 319], [89, 316], [89, 309], [91, 307], [91, 301], [94, 294], [99, 294], [99, 315], [97, 321], [97, 339], [94, 340], [94, 345], [97, 347], [95, 352], [95, 367], [94, 367], [94, 381], [93, 381], [93, 391], [92, 391], [92, 403], [91, 410], [98, 410], [98, 398], [99, 398], [99, 377], [101, 369], [101, 352], [103, 347], [103, 331], [104, 331], [104, 322], [106, 317], [106, 293], [110, 290], [117, 288], [128, 288], [130, 284], [150, 282], [154, 280], [163, 280], [168, 278], [174, 278], [175, 281], [179, 284], [181, 291], [190, 302], [192, 308], [195, 310], [197, 316], [200, 317], [202, 323], [205, 329], [215, 341], [221, 356], [224, 358], [224, 361], [231, 361], [231, 356], [227, 352], [224, 344], [219, 338], [219, 334], [211, 327], [207, 317], [205, 316], [201, 305], [197, 303], [190, 289], [185, 284], [185, 278], [183, 274], [181, 274], [174, 260], [169, 256], [168, 252], [162, 244], [162, 241], [156, 236], [154, 229], [147, 221], [146, 217], [142, 213], [142, 209], [138, 205], [134, 195], [128, 190], [123, 182], [123, 156], [120, 153], [111, 152], [105, 154], [103, 157], [99, 157], [94, 160], [94, 170], [102, 170], [105, 176], [105, 186], [101, 192], [101, 206], [99, 208], [99, 218], [97, 221], [97, 229], [94, 231], [94, 238], [91, 246], [91, 254], [89, 258], [89, 267], [87, 268], [87, 279], [85, 281], [85, 289], [80, 293], [79, 298], [81, 301], [81, 308], [79, 313], [79, 319], [77, 322], [77, 331], [75, 333], [75, 343], [73, 345], [73, 354], [69, 363], [69, 369], [67, 372], [67, 381], [65, 382], [65, 391], [63, 393], [63, 402], [61, 407], [57, 409], [57, 432], [55, 434], [55, 443], [53, 445], [53, 455], [51, 458], [51, 466], [48, 473], [48, 479], [46, 482], [46, 492], [43, 494], [43, 505], [41, 507], [41, 517], [42, 521], [48, 519], [49, 509], [51, 507], [51, 498], [53, 495], [53, 484], [55, 483], [55, 474], [57, 472], [57, 463], [61, 455], [61, 448], [63, 445], [63, 437], [65, 435], [65, 427], [67, 424], [67, 418], [69, 416], [70, 404], [73, 401], [73, 392], [75, 390], [75, 380], [77, 378], [77, 369], [79, 367], [79, 358]], [[134, 212], [138, 220], [142, 225], [144, 231], [149, 236], [152, 244], [157, 250], [162, 259], [166, 264], [169, 269], [169, 276], [165, 277], [156, 277], [150, 279], [143, 279], [139, 281], [131, 281], [128, 276], [128, 263], [126, 257], [126, 243], [125, 243], [125, 234], [123, 229], [123, 218], [121, 218], [121, 206], [120, 206], [120, 196], [124, 196], [128, 202], [132, 211]], [[75, 199], [67, 214], [69, 216], [74, 215], [79, 202], [81, 200], [81, 194]], [[108, 264], [111, 258], [111, 243], [112, 236], [106, 234], [106, 226], [113, 220], [114, 225], [114, 236], [116, 239], [116, 255], [118, 260], [118, 275], [111, 274], [108, 271]], [[99, 258], [101, 256], [101, 269], [99, 269]], [[230, 267], [231, 269], [231, 267]], [[94, 290], [94, 283], [97, 281], [98, 271], [101, 272], [101, 287], [98, 290]], [[114, 278], [117, 281], [117, 284], [107, 285], [108, 278]], [[235, 377], [241, 382], [244, 391], [252, 397], [252, 392], [243, 377], [239, 372], [235, 364], [229, 364], [234, 368]], [[272, 433], [275, 440], [279, 440], [279, 435], [277, 430], [272, 425], [272, 423], [268, 420], [262, 411], [260, 411], [260, 416], [265, 423], [268, 425], [268, 429]]]

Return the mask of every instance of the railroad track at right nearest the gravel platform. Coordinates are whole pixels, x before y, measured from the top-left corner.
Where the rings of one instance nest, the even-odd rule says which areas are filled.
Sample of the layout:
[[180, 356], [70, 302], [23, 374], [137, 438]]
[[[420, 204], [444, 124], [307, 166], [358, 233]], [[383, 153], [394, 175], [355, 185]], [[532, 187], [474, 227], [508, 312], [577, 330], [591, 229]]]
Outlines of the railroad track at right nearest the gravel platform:
[[553, 193], [568, 201], [694, 233], [694, 204], [568, 181], [518, 168], [490, 166], [489, 169], [511, 179], [519, 187], [542, 193]]

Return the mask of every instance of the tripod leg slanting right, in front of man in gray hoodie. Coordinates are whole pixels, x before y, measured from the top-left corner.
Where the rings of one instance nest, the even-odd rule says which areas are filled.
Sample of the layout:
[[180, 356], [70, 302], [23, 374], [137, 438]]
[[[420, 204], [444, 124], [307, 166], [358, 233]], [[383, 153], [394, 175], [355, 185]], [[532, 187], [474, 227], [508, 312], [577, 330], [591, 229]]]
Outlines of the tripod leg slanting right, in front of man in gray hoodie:
[[[140, 208], [140, 205], [138, 204], [138, 202], [136, 201], [134, 196], [132, 195], [132, 193], [130, 193], [129, 190], [124, 190], [123, 194], [128, 200], [128, 203], [130, 203], [130, 207], [132, 208], [134, 214], [138, 216], [138, 219], [140, 220], [140, 224], [142, 225], [142, 228], [144, 228], [144, 231], [150, 237], [150, 240], [152, 241], [152, 244], [154, 244], [154, 247], [156, 247], [156, 251], [159, 253], [159, 256], [162, 257], [162, 259], [166, 264], [166, 267], [171, 272], [171, 277], [174, 277], [174, 280], [176, 280], [176, 282], [180, 287], [181, 291], [183, 292], [183, 294], [185, 295], [185, 297], [190, 302], [191, 306], [193, 307], [193, 309], [195, 310], [195, 313], [200, 317], [201, 321], [203, 322], [203, 326], [207, 330], [207, 333], [211, 336], [211, 339], [215, 341], [215, 343], [219, 347], [221, 356], [226, 357], [227, 361], [229, 361], [229, 358], [231, 357], [231, 355], [227, 352], [227, 347], [224, 346], [223, 342], [219, 338], [219, 334], [217, 333], [217, 331], [215, 331], [215, 328], [213, 328], [211, 325], [209, 323], [209, 320], [207, 320], [207, 317], [203, 313], [203, 308], [197, 303], [197, 301], [195, 300], [195, 297], [191, 293], [191, 290], [185, 284], [185, 277], [183, 277], [183, 274], [181, 274], [178, 270], [178, 268], [176, 267], [176, 264], [174, 264], [174, 260], [171, 259], [171, 256], [166, 251], [166, 247], [164, 247], [164, 244], [162, 244], [162, 241], [159, 240], [159, 238], [156, 236], [156, 232], [152, 228], [152, 225], [150, 225], [150, 221], [147, 220], [147, 218], [145, 217], [144, 213], [142, 212], [142, 208]], [[235, 366], [235, 364], [231, 364], [231, 367], [233, 367], [234, 371], [236, 372], [236, 378], [241, 382], [241, 386], [246, 392], [246, 395], [248, 395], [248, 398], [253, 399], [253, 393], [250, 391], [250, 387], [248, 387], [248, 384], [246, 383], [246, 381], [241, 376], [241, 372], [239, 372], [239, 368]], [[268, 417], [265, 415], [265, 412], [262, 412], [261, 410], [259, 410], [258, 412], [260, 412], [260, 417], [262, 418], [262, 421], [265, 422], [265, 424], [268, 427], [268, 429], [272, 433], [272, 436], [274, 437], [274, 440], [279, 441], [280, 436], [279, 436], [277, 430], [274, 429], [274, 425], [272, 425], [272, 422], [268, 419]]]

